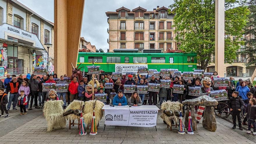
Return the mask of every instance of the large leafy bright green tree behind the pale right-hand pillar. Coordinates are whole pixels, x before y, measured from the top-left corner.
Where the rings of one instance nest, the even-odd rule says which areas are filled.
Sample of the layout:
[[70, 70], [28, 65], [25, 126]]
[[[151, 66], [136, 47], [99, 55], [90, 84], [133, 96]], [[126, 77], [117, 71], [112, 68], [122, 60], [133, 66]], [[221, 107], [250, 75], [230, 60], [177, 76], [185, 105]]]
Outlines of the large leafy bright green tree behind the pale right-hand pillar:
[[[234, 5], [239, 5], [234, 7]], [[215, 53], [215, 0], [174, 0], [169, 13], [175, 14], [175, 40], [179, 49], [197, 53], [201, 69], [205, 70]], [[225, 0], [225, 34], [242, 36], [249, 10], [237, 0]], [[225, 39], [225, 63], [232, 63], [243, 41]]]

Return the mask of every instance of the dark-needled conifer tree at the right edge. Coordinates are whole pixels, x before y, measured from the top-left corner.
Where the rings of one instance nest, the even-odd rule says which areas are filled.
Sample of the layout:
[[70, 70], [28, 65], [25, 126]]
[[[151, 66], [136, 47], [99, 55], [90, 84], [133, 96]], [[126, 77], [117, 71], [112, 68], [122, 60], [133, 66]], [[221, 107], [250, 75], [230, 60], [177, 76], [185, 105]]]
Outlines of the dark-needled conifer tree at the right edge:
[[248, 8], [250, 10], [250, 15], [248, 16], [248, 23], [244, 30], [246, 35], [245, 48], [240, 54], [246, 54], [246, 67], [256, 65], [256, 1], [248, 1]]

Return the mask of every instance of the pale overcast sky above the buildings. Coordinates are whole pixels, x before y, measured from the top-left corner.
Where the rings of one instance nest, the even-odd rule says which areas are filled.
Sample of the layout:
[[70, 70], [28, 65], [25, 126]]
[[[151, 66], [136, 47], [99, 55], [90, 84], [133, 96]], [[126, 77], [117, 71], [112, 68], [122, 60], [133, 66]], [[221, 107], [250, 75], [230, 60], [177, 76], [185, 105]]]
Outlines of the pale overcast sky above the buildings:
[[[38, 15], [54, 22], [54, 0], [18, 0]], [[105, 12], [115, 11], [124, 6], [130, 10], [141, 6], [153, 10], [157, 6], [168, 8], [173, 0], [85, 0], [81, 37], [104, 52], [109, 48], [107, 38], [107, 16]]]

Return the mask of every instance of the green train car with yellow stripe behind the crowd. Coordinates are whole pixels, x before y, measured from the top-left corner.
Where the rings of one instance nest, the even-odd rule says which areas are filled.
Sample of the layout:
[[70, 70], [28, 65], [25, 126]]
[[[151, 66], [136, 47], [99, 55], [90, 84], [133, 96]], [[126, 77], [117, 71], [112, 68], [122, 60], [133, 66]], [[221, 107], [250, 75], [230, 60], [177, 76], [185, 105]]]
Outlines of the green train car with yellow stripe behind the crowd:
[[[145, 65], [148, 69], [178, 69], [181, 72], [193, 71], [197, 67], [195, 53], [131, 53], [131, 52], [79, 52], [77, 65], [87, 72], [89, 65], [99, 65], [105, 74], [115, 72], [116, 65]], [[133, 68], [131, 66], [131, 68]]]

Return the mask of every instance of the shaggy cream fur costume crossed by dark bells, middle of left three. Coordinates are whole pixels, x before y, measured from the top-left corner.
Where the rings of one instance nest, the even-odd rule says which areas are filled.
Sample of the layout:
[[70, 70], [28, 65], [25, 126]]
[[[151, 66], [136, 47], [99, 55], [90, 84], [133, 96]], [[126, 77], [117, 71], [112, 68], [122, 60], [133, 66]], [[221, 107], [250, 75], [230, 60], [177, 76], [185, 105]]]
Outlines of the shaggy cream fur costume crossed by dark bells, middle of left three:
[[[82, 104], [82, 106], [83, 106], [83, 105], [84, 105], [84, 102], [83, 102], [83, 101], [74, 100], [73, 102], [71, 102], [71, 103], [67, 106], [67, 109], [65, 109], [65, 111], [67, 111], [67, 110], [69, 110], [69, 109], [72, 109], [72, 110], [80, 109], [80, 110], [81, 110], [81, 104]], [[83, 114], [83, 115], [84, 115], [84, 114]], [[65, 116], [65, 118], [66, 118], [67, 120], [70, 119], [71, 121], [73, 121], [73, 120], [79, 120], [80, 116], [71, 114], [71, 115]]]

